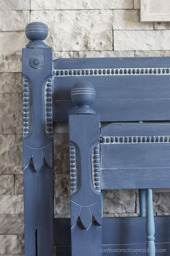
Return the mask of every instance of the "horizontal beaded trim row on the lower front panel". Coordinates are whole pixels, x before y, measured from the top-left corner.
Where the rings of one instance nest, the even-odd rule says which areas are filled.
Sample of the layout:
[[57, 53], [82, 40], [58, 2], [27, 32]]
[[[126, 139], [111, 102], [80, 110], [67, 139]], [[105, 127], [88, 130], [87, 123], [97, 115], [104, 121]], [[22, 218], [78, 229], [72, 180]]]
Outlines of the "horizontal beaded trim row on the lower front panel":
[[124, 144], [124, 143], [169, 143], [170, 136], [111, 136], [101, 137], [102, 144]]

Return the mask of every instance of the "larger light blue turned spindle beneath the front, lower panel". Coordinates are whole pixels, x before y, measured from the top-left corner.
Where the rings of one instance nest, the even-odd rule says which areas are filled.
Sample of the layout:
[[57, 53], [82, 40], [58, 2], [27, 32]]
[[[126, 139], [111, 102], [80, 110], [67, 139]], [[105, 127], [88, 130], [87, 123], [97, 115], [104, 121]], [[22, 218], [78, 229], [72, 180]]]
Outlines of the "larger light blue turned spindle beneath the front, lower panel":
[[147, 256], [155, 256], [155, 224], [152, 200], [152, 189], [146, 190], [146, 240]]

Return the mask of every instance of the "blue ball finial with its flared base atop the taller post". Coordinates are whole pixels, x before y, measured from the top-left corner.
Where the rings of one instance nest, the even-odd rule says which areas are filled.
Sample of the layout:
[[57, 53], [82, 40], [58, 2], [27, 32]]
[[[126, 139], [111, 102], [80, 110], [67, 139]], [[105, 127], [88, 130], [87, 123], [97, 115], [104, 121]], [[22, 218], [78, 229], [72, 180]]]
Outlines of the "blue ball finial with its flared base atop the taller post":
[[48, 36], [48, 27], [42, 22], [31, 22], [25, 28], [26, 37], [33, 41], [27, 44], [26, 48], [47, 48], [48, 46], [41, 42]]

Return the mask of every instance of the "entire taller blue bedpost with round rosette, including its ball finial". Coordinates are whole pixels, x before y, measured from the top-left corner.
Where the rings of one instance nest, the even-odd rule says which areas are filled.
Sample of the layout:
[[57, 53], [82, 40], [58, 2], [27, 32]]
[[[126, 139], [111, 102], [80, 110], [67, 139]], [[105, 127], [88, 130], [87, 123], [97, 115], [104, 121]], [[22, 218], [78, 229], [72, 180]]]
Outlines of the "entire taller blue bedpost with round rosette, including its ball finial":
[[52, 49], [44, 23], [26, 26], [22, 51], [25, 256], [54, 255]]

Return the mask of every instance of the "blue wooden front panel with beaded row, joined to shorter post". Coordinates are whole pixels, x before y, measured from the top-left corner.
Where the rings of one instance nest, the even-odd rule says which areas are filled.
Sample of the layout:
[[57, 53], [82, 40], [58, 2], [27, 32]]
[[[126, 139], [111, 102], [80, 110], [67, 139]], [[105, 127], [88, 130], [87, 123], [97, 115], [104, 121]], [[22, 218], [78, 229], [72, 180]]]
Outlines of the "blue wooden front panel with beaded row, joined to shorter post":
[[[112, 123], [102, 127], [101, 136], [105, 137], [101, 141], [105, 140], [101, 143], [101, 188], [169, 187], [170, 143], [164, 141], [169, 127], [169, 123]], [[119, 142], [116, 138], [120, 138]]]

